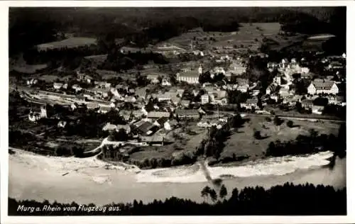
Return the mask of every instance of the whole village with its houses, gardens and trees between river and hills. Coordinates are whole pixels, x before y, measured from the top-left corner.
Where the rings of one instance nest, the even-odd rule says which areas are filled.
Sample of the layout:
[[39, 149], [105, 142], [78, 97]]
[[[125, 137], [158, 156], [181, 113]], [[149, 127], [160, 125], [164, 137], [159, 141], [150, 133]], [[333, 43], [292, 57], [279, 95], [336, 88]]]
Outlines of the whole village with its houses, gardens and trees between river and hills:
[[[48, 135], [48, 130], [54, 128], [56, 138], [62, 136], [58, 133], [69, 136], [78, 125], [85, 127], [80, 121], [88, 112], [101, 116], [92, 121], [90, 125], [97, 122], [92, 128], [84, 128], [90, 134], [80, 138], [108, 137], [109, 141], [116, 142], [114, 148], [119, 159], [129, 157], [127, 152], [136, 151], [132, 147], [144, 147], [138, 150], [141, 160], [165, 155], [159, 148], [169, 151], [167, 157], [177, 153], [182, 157], [192, 153], [191, 157], [195, 157], [195, 150], [209, 138], [210, 130], [237, 128], [232, 121], [236, 117], [242, 120], [255, 116], [305, 121], [344, 119], [345, 53], [324, 56], [314, 51], [275, 61], [260, 52], [260, 42], [256, 42], [258, 46], [249, 45], [248, 51], [243, 48], [248, 41], [240, 42], [241, 46], [224, 41], [199, 50], [194, 45], [195, 37], [192, 38], [195, 32], [201, 31], [187, 33], [192, 40], [186, 47], [170, 41], [145, 49], [123, 46], [119, 51], [122, 56], [158, 54], [170, 60], [189, 57], [186, 62], [159, 65], [148, 61], [138, 69], [115, 72], [99, 66], [106, 62], [107, 55], [90, 55], [84, 57], [89, 66], [72, 71], [60, 67], [52, 71], [53, 75], [34, 73], [31, 78], [11, 85], [11, 89], [31, 104], [26, 118], [33, 127], [44, 120], [50, 121], [49, 128], [47, 122], [47, 129], [38, 135]], [[310, 39], [314, 38], [324, 36]], [[76, 39], [72, 39], [75, 43]], [[37, 47], [46, 52], [55, 45], [60, 44]], [[55, 75], [58, 72], [60, 76]], [[257, 77], [254, 73], [261, 74]], [[52, 112], [48, 113], [48, 108]], [[255, 129], [250, 138], [260, 133]], [[94, 147], [93, 151], [90, 147], [84, 151], [98, 152], [99, 148]], [[186, 150], [175, 152], [183, 148]], [[112, 150], [109, 147], [104, 152]]]

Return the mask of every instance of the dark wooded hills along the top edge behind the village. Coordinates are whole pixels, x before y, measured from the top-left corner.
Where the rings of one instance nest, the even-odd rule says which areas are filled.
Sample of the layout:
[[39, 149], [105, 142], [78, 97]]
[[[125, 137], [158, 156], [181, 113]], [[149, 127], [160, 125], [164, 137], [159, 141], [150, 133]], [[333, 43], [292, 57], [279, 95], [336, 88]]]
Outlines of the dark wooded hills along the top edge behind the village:
[[294, 33], [333, 33], [344, 42], [346, 7], [11, 8], [9, 52], [13, 55], [33, 45], [58, 40], [62, 38], [60, 32], [94, 38], [109, 36], [111, 40], [124, 38], [146, 47], [196, 27], [229, 32], [238, 30], [239, 23], [263, 22], [280, 22], [283, 30]]

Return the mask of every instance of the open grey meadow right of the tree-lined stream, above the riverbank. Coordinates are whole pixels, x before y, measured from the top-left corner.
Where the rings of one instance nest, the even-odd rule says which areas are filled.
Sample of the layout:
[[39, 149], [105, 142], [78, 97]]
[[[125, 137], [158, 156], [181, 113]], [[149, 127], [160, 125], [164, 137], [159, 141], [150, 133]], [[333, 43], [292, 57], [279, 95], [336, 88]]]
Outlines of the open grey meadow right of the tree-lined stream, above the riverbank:
[[[294, 120], [294, 127], [289, 128], [286, 122], [280, 125], [280, 130], [273, 122], [266, 121], [264, 117], [252, 117], [249, 123], [245, 123], [243, 128], [239, 128], [238, 132], [232, 133], [221, 155], [223, 157], [260, 157], [266, 152], [268, 144], [280, 140], [281, 142], [295, 140], [297, 135], [309, 135], [310, 129], [314, 129], [319, 134], [337, 135], [339, 124], [330, 122], [310, 122]], [[265, 136], [262, 140], [253, 138], [254, 130], [260, 130], [261, 136]]]

